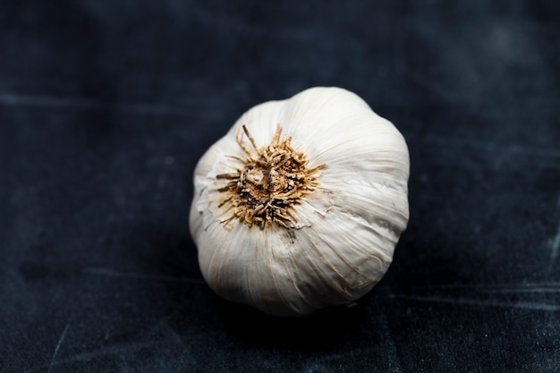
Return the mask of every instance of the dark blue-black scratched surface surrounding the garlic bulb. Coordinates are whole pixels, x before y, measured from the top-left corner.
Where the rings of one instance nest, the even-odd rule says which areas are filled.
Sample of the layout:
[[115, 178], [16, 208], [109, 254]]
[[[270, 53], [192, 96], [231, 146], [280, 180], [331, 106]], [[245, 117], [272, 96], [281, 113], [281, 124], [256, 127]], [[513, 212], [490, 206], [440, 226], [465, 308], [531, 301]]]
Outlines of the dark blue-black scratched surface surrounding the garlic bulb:
[[[352, 309], [201, 279], [191, 174], [243, 111], [351, 89], [403, 131], [411, 223]], [[560, 3], [0, 4], [0, 372], [557, 372]]]

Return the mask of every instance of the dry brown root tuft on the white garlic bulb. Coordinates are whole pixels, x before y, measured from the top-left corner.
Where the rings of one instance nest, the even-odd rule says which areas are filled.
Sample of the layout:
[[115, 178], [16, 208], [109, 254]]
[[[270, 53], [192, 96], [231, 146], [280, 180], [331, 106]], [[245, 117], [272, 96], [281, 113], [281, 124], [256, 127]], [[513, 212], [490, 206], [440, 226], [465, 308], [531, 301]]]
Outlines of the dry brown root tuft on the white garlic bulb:
[[292, 147], [292, 138], [284, 135], [280, 140], [280, 124], [270, 144], [261, 148], [257, 147], [244, 124], [242, 129], [254, 152], [243, 143], [238, 132], [237, 143], [247, 157], [230, 157], [238, 160], [242, 168], [232, 174], [216, 175], [216, 179], [227, 181], [218, 189], [225, 194], [218, 208], [228, 204], [233, 210], [233, 215], [223, 223], [237, 217], [249, 226], [258, 225], [260, 229], [274, 223], [290, 228], [297, 223], [293, 205], [300, 203], [317, 187], [316, 174], [325, 164], [307, 168], [305, 154]]

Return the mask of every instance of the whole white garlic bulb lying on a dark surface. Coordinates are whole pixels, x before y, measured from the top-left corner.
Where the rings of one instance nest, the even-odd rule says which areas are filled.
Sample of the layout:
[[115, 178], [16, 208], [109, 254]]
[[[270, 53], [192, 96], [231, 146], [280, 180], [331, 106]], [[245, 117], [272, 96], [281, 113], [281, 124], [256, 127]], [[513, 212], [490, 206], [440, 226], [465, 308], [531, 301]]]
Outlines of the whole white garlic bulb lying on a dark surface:
[[254, 106], [200, 158], [191, 234], [208, 285], [272, 315], [351, 304], [406, 228], [409, 154], [345, 89]]

